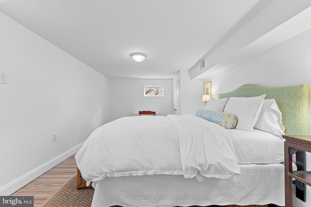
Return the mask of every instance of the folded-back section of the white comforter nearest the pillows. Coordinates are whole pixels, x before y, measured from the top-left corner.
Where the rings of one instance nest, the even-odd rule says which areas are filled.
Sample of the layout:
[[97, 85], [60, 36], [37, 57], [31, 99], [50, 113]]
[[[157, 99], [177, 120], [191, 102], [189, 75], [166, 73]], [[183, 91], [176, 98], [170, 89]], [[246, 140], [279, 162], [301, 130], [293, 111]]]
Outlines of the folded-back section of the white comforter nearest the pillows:
[[179, 131], [185, 178], [200, 172], [205, 177], [228, 178], [240, 174], [228, 130], [193, 115], [168, 115]]

